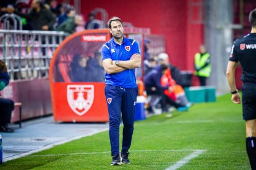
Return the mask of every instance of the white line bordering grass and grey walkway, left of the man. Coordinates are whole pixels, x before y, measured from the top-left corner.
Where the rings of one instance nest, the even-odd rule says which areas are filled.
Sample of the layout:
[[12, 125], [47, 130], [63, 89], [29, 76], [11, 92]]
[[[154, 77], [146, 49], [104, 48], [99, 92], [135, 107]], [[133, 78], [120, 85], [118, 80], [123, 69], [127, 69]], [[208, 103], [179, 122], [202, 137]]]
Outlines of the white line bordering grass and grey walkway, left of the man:
[[67, 142], [70, 142], [72, 140], [77, 140], [77, 139], [81, 139], [82, 137], [88, 137], [88, 136], [93, 136], [94, 134], [98, 134], [100, 132], [105, 132], [107, 131], [109, 128], [104, 128], [104, 129], [101, 129], [100, 131], [96, 131], [96, 132], [91, 132], [90, 134], [84, 134], [82, 136], [76, 136], [76, 137], [71, 137], [69, 139], [66, 139], [66, 140], [62, 140], [60, 142], [56, 142], [56, 143], [53, 143], [53, 144], [49, 144], [49, 145], [46, 145], [45, 147], [41, 147], [37, 150], [32, 150], [30, 152], [26, 152], [26, 153], [22, 153], [22, 154], [19, 154], [19, 155], [16, 155], [16, 156], [11, 156], [11, 157], [8, 157], [8, 158], [4, 158], [3, 162], [7, 162], [7, 161], [10, 161], [10, 160], [15, 160], [17, 158], [21, 158], [23, 156], [27, 156], [27, 155], [30, 155], [32, 153], [36, 153], [36, 152], [40, 152], [40, 151], [43, 151], [43, 150], [47, 150], [49, 148], [53, 148], [57, 145], [61, 145], [61, 144], [66, 144]]

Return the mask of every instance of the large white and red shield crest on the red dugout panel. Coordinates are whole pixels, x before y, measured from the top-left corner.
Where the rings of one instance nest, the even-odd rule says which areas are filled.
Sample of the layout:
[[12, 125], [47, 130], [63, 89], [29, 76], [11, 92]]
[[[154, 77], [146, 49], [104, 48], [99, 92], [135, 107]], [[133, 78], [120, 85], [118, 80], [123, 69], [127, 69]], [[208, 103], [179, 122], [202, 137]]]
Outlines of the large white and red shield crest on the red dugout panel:
[[68, 85], [67, 102], [69, 107], [79, 116], [87, 113], [94, 99], [93, 85]]

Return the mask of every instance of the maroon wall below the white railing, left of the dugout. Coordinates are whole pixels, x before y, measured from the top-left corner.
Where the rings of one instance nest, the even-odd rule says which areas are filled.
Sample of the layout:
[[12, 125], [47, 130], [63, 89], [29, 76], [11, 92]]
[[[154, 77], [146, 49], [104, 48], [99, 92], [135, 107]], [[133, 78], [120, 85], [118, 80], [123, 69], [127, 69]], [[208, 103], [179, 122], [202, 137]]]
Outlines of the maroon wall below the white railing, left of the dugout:
[[[32, 79], [10, 82], [2, 97], [22, 102], [22, 119], [52, 113], [49, 79]], [[15, 108], [11, 122], [19, 121], [19, 108]]]

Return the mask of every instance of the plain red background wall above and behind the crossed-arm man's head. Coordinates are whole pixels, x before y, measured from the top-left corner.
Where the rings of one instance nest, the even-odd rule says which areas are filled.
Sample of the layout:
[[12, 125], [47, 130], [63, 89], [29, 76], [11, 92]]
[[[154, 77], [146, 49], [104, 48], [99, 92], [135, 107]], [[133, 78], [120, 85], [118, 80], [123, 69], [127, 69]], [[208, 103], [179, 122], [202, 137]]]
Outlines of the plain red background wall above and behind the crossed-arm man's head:
[[[200, 0], [194, 0], [197, 2]], [[189, 5], [189, 0], [130, 0], [81, 1], [81, 12], [87, 18], [96, 7], [106, 9], [109, 18], [119, 16], [124, 22], [137, 27], [151, 28], [153, 34], [163, 34], [166, 40], [166, 52], [170, 61], [182, 70], [194, 70], [194, 54], [203, 42], [203, 25], [190, 22], [190, 12], [194, 19], [198, 17], [198, 7]]]

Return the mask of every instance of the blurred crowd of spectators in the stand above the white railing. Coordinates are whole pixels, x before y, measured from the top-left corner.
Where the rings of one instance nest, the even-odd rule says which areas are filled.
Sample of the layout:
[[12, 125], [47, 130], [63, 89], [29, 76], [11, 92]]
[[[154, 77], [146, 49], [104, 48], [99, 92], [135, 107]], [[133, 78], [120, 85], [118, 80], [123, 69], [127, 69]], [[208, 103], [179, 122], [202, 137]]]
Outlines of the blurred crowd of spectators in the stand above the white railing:
[[[0, 17], [5, 14], [19, 15], [22, 30], [56, 30], [69, 34], [87, 29], [96, 18], [95, 14], [88, 15], [85, 24], [82, 15], [77, 15], [73, 6], [55, 0], [1, 0]], [[99, 28], [99, 25], [95, 24], [93, 28]]]

